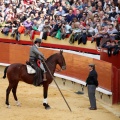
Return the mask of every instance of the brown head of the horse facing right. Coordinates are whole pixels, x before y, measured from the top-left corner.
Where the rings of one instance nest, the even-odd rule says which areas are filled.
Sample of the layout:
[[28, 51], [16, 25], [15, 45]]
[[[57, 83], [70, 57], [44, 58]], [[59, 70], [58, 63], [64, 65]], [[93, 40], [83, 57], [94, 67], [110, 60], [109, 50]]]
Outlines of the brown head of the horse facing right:
[[65, 63], [65, 59], [62, 53], [63, 53], [62, 50], [60, 50], [60, 53], [58, 53], [57, 64], [62, 68], [62, 70], [65, 70], [66, 63]]

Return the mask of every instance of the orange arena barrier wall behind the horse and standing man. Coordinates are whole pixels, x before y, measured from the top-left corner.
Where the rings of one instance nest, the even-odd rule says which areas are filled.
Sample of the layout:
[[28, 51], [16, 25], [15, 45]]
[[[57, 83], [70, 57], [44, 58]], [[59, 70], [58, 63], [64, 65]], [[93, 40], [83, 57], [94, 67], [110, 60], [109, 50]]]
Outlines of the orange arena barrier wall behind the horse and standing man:
[[[0, 48], [1, 48], [0, 49], [1, 63], [12, 64], [17, 62], [17, 63], [25, 64], [25, 62], [29, 59], [30, 46], [0, 43]], [[46, 48], [40, 48], [40, 50], [44, 53], [45, 58], [58, 52], [56, 50], [46, 49]], [[89, 57], [71, 54], [67, 52], [64, 52], [63, 54], [66, 60], [67, 69], [58, 74], [61, 74], [62, 76], [69, 76], [70, 78], [75, 78], [78, 81], [82, 81], [83, 83], [85, 83], [86, 77], [88, 76], [88, 73], [89, 73], [88, 64], [91, 62], [95, 63], [96, 70], [99, 75], [98, 81], [99, 81], [99, 87], [100, 87], [98, 88], [99, 90], [97, 92], [97, 98], [100, 98], [101, 100], [112, 104], [113, 103], [112, 94], [114, 94], [113, 93], [114, 90], [112, 86], [113, 85], [112, 76], [114, 74], [112, 71], [112, 64], [102, 60], [97, 60], [94, 58], [89, 58]], [[57, 66], [57, 68], [58, 67], [59, 66]], [[85, 87], [85, 84], [78, 84], [78, 83], [75, 83], [74, 81], [66, 80], [63, 78], [60, 78], [63, 85], [71, 86], [74, 90], [82, 90], [86, 93], [87, 88]], [[112, 94], [104, 94], [104, 92], [100, 91], [101, 89], [103, 89], [104, 91], [108, 91], [105, 93], [112, 93]]]

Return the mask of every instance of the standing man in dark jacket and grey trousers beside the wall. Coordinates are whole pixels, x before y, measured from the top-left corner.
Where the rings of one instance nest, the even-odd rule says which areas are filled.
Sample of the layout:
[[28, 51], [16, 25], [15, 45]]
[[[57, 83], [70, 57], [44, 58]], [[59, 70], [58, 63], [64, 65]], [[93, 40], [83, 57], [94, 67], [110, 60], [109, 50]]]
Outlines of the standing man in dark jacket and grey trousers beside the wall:
[[88, 88], [88, 97], [90, 101], [90, 110], [97, 110], [96, 107], [96, 98], [95, 98], [95, 90], [96, 87], [98, 86], [98, 81], [97, 81], [97, 72], [95, 70], [95, 64], [91, 63], [89, 64], [89, 75], [86, 80], [86, 86]]

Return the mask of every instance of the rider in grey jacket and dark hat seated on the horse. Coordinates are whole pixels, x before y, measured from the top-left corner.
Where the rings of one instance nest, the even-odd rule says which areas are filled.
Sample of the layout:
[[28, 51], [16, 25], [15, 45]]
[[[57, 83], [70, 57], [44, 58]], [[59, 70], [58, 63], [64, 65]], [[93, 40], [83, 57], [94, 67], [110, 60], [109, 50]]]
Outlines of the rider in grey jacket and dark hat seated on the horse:
[[[34, 81], [33, 81], [33, 84], [35, 86], [39, 86], [41, 82], [47, 80], [46, 79], [46, 70], [41, 62], [41, 60], [44, 59], [44, 55], [38, 50], [38, 47], [40, 47], [40, 44], [41, 44], [41, 39], [36, 38], [34, 45], [30, 49], [29, 61], [30, 61], [30, 64], [32, 65], [32, 67], [36, 70], [36, 74], [35, 74]], [[37, 60], [40, 60], [40, 68], [44, 72], [43, 80], [42, 80], [42, 76], [41, 76], [41, 70], [37, 65]]]

